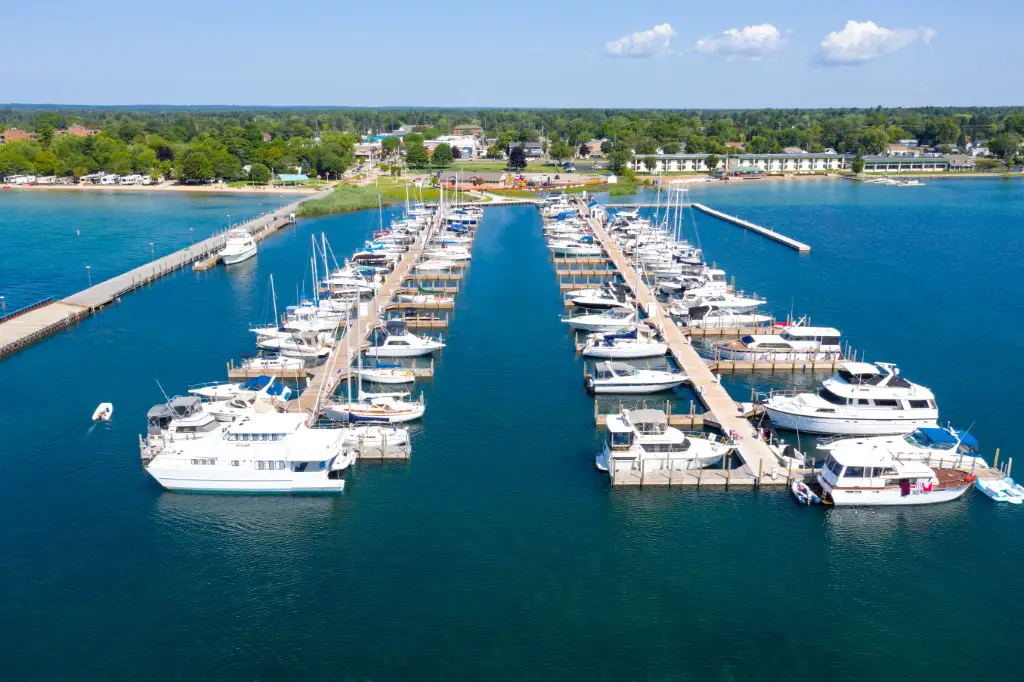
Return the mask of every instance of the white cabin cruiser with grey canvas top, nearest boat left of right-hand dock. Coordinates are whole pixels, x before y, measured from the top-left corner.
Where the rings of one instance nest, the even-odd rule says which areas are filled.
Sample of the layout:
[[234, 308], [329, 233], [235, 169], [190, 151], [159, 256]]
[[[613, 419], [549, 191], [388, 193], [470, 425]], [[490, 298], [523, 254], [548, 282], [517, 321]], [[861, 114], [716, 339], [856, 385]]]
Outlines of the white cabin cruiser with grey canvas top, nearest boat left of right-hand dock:
[[656, 410], [624, 410], [608, 417], [608, 437], [595, 466], [616, 473], [700, 469], [722, 461], [731, 445], [706, 433], [683, 433]]

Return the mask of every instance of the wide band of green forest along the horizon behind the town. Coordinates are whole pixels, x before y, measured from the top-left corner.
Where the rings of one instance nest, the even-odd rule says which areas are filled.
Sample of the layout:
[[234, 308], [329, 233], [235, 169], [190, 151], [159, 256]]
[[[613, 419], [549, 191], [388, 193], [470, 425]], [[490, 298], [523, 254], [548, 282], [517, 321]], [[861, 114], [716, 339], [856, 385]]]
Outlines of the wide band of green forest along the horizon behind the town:
[[[800, 147], [882, 154], [887, 144], [916, 139], [940, 152], [985, 140], [991, 152], [1019, 162], [1024, 108], [874, 108], [827, 110], [500, 110], [305, 108], [58, 108], [0, 109], [0, 130], [36, 139], [0, 145], [0, 175], [75, 175], [103, 170], [150, 173], [184, 181], [253, 179], [301, 169], [336, 177], [355, 161], [364, 135], [417, 126], [429, 139], [474, 123], [495, 141], [488, 156], [512, 141], [549, 140], [577, 148], [593, 139], [621, 166], [633, 155], [728, 154]], [[69, 125], [101, 130], [59, 135]], [[388, 145], [396, 151], [396, 144]], [[417, 148], [417, 153], [419, 148]], [[249, 172], [243, 167], [251, 167]]]

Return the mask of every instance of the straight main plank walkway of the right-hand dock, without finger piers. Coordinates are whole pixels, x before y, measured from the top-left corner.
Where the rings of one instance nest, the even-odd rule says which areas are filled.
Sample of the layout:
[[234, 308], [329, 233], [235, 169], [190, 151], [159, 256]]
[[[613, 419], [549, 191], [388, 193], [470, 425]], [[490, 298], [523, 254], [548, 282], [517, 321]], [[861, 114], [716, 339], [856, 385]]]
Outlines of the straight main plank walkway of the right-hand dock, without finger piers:
[[715, 373], [690, 345], [689, 339], [683, 331], [662, 310], [660, 303], [647, 284], [643, 280], [637, 280], [630, 260], [608, 236], [604, 225], [590, 216], [590, 211], [583, 202], [580, 202], [580, 210], [587, 218], [594, 236], [600, 240], [605, 252], [615, 263], [620, 275], [633, 290], [639, 306], [647, 311], [649, 322], [664, 331], [669, 352], [689, 377], [699, 400], [724, 432], [732, 432], [735, 435], [735, 452], [742, 462], [742, 467], [734, 473], [729, 473], [728, 476], [730, 478], [735, 476], [737, 479], [756, 479], [762, 472], [777, 467], [778, 458], [775, 457], [767, 443], [755, 437], [750, 423], [740, 413], [739, 406], [718, 382]]

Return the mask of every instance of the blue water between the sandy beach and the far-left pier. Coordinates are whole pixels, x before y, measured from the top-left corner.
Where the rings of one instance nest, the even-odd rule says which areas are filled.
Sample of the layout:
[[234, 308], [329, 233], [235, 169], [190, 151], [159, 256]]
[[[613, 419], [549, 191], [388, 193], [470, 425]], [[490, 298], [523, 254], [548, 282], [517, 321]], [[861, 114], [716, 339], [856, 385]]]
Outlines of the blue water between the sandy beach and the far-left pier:
[[[292, 201], [283, 195], [0, 191], [0, 296], [10, 312], [201, 241]], [[190, 228], [190, 230], [189, 230]], [[86, 266], [89, 266], [89, 271]]]

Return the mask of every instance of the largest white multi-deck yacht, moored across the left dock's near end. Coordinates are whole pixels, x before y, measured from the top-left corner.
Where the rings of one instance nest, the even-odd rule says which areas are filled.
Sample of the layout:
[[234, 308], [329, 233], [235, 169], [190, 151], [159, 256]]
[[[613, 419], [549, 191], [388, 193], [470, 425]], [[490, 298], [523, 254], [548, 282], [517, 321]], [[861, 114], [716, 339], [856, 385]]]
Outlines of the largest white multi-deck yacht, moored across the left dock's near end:
[[252, 412], [229, 425], [213, 422], [201, 437], [168, 438], [151, 430], [139, 438], [142, 466], [169, 491], [340, 493], [341, 472], [355, 460], [355, 450], [346, 450], [344, 430], [310, 428], [307, 419]]

